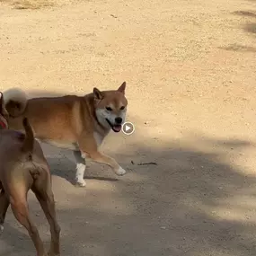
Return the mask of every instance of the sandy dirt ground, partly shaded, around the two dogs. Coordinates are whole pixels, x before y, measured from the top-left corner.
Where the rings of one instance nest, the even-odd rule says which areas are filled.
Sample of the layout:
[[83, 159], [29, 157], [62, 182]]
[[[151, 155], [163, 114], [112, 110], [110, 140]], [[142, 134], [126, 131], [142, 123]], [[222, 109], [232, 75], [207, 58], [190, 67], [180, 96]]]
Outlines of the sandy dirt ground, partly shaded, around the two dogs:
[[[0, 7], [1, 90], [82, 95], [128, 83], [136, 131], [102, 145], [127, 175], [88, 163], [87, 187], [76, 188], [73, 154], [43, 145], [61, 255], [256, 255], [255, 1]], [[49, 246], [46, 218], [29, 201]], [[35, 254], [9, 210], [0, 255]]]

